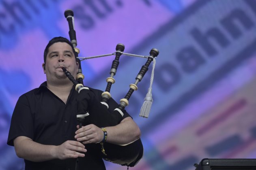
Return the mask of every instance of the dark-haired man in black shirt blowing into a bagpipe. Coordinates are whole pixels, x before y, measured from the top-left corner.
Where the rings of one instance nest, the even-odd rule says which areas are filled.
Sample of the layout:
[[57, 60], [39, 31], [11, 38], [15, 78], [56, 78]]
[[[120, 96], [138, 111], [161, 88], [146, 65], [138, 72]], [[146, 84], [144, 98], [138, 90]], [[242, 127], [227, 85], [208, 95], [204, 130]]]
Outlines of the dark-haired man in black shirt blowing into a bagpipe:
[[[101, 127], [89, 124], [77, 130], [78, 93], [62, 71], [65, 67], [76, 77], [78, 63], [74, 53], [66, 38], [50, 40], [42, 65], [46, 82], [17, 101], [7, 144], [15, 147], [18, 157], [24, 158], [26, 170], [75, 169], [77, 157], [80, 169], [105, 169], [99, 147], [104, 138]], [[91, 90], [100, 101], [101, 91]], [[109, 110], [117, 106], [112, 98], [109, 106]], [[140, 138], [140, 129], [126, 112], [120, 124], [105, 130], [106, 142], [112, 144], [125, 145]]]

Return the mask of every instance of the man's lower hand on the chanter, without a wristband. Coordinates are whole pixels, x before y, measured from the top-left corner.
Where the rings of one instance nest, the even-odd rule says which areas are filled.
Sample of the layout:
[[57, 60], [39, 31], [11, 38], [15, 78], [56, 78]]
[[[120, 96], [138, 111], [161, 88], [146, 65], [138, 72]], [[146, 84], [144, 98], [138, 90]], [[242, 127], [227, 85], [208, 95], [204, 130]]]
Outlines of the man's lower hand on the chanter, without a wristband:
[[56, 157], [58, 159], [67, 159], [67, 158], [77, 158], [77, 157], [84, 157], [83, 153], [79, 152], [86, 152], [87, 150], [84, 149], [84, 145], [80, 142], [67, 140], [66, 142], [62, 143], [61, 145], [55, 148]]

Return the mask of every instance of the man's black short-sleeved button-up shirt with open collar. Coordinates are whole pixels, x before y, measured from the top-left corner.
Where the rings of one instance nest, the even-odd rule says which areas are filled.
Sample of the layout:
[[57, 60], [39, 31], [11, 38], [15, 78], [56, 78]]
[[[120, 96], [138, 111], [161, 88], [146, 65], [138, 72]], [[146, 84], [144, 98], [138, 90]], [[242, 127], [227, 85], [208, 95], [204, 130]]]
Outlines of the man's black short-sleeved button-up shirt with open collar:
[[[60, 145], [67, 140], [75, 140], [78, 92], [73, 88], [65, 104], [46, 87], [44, 82], [19, 97], [13, 111], [7, 144], [13, 146], [18, 136], [26, 136], [34, 142], [46, 145]], [[96, 100], [101, 101], [102, 91], [91, 89]], [[110, 98], [110, 112], [118, 104]], [[93, 114], [93, 113], [90, 113]], [[129, 117], [124, 113], [123, 119]], [[99, 117], [100, 119], [100, 117]], [[80, 170], [104, 170], [100, 144], [86, 144], [85, 157], [80, 157]], [[43, 162], [25, 161], [26, 170], [74, 170], [75, 159], [54, 159]]]

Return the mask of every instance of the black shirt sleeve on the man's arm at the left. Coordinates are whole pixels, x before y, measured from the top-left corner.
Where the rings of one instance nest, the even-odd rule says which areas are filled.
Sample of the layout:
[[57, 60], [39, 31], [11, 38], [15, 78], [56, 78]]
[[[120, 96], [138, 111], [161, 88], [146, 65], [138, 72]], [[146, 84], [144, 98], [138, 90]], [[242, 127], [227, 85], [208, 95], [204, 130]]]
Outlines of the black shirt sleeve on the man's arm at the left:
[[7, 144], [14, 146], [13, 140], [18, 136], [34, 138], [34, 118], [26, 95], [19, 97], [14, 108]]

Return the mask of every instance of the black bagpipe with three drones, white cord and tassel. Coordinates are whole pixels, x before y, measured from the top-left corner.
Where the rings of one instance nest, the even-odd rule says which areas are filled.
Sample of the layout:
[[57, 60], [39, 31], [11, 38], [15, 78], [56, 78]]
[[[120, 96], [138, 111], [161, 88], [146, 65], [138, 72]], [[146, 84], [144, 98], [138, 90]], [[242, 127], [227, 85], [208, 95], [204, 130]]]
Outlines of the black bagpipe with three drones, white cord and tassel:
[[[142, 55], [134, 55], [123, 53], [125, 46], [123, 44], [116, 45], [116, 52], [106, 55], [98, 55], [93, 57], [78, 57], [78, 53], [80, 52], [77, 49], [77, 40], [76, 33], [74, 30], [74, 13], [71, 10], [66, 10], [64, 13], [68, 23], [69, 23], [69, 37], [73, 48], [75, 49], [75, 57], [79, 64], [77, 77], [75, 78], [67, 71], [67, 69], [62, 68], [65, 72], [66, 76], [73, 82], [75, 85], [75, 90], [78, 91], [79, 95], [77, 98], [77, 120], [79, 122], [80, 127], [82, 124], [95, 124], [98, 127], [108, 127], [118, 125], [123, 118], [125, 107], [129, 105], [129, 98], [133, 94], [133, 91], [138, 89], [137, 84], [142, 80], [144, 75], [148, 70], [148, 66], [153, 61], [153, 71], [155, 67], [155, 57], [159, 54], [157, 49], [151, 49], [150, 55], [142, 56]], [[81, 61], [95, 58], [95, 57], [104, 57], [108, 55], [115, 55], [115, 59], [112, 62], [112, 66], [110, 69], [110, 77], [106, 79], [107, 87], [105, 91], [101, 94], [102, 99], [98, 101], [95, 99], [93, 92], [89, 87], [85, 87], [83, 84], [84, 75], [82, 74]], [[119, 58], [121, 55], [131, 55], [135, 57], [144, 57], [147, 59], [146, 63], [140, 69], [138, 75], [136, 76], [136, 81], [133, 84], [130, 84], [130, 89], [127, 92], [126, 96], [120, 100], [120, 104], [114, 110], [109, 109], [108, 101], [111, 98], [110, 89], [113, 83], [115, 83], [115, 79], [113, 78], [116, 74], [116, 70], [119, 65]], [[80, 58], [82, 60], [80, 60]], [[153, 74], [151, 74], [151, 85], [148, 89], [148, 94], [146, 95], [144, 106], [142, 106], [140, 116], [148, 117], [148, 113], [152, 103], [152, 82], [153, 82]], [[120, 164], [123, 166], [135, 166], [138, 161], [143, 156], [143, 146], [140, 139], [127, 144], [125, 146], [120, 146], [116, 144], [111, 144], [108, 142], [101, 143], [102, 157], [107, 161], [111, 161], [116, 164]]]

